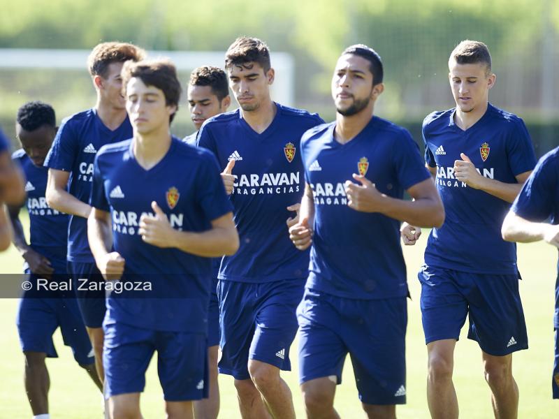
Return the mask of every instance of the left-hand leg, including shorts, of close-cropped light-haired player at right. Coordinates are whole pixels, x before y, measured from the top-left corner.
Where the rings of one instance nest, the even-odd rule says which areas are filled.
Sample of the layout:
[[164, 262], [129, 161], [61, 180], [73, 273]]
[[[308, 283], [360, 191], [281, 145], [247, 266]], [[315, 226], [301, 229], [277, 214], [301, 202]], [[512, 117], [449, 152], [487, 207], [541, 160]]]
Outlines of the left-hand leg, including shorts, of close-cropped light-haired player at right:
[[458, 418], [458, 398], [452, 382], [453, 357], [468, 308], [454, 274], [428, 266], [418, 274], [428, 353], [427, 400], [432, 418]]

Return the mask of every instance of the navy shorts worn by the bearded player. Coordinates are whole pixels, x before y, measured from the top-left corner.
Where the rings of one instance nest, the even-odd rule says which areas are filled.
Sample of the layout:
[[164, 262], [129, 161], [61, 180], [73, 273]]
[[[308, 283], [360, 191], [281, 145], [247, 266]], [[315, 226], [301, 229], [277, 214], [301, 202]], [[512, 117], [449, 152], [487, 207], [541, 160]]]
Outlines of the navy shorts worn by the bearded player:
[[330, 376], [342, 383], [349, 353], [361, 402], [405, 404], [405, 297], [351, 300], [307, 289], [297, 318], [300, 383]]

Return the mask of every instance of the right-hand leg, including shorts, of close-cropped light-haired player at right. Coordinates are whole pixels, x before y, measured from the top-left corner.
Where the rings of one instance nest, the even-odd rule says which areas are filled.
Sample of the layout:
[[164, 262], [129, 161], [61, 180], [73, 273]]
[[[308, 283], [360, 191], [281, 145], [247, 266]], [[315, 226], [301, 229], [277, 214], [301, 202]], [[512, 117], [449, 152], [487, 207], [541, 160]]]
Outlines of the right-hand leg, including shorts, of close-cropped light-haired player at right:
[[[462, 274], [466, 276], [467, 274]], [[468, 338], [483, 351], [485, 378], [491, 388], [495, 418], [516, 418], [518, 386], [512, 376], [512, 353], [528, 348], [528, 334], [517, 275], [472, 275]]]

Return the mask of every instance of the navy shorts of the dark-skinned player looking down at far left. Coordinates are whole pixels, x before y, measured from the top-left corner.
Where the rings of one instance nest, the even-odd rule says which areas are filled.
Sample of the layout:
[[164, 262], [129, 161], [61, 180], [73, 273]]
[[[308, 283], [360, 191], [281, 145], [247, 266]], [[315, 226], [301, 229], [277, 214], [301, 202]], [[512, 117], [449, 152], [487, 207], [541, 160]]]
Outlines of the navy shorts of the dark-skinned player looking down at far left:
[[[36, 278], [31, 274], [29, 281], [35, 283]], [[32, 295], [32, 291], [23, 293], [16, 324], [24, 352], [43, 352], [49, 358], [57, 358], [52, 334], [60, 328], [64, 344], [72, 348], [78, 364], [91, 365], [95, 361], [73, 293], [57, 296], [57, 292], [50, 291], [48, 297], [43, 298]]]

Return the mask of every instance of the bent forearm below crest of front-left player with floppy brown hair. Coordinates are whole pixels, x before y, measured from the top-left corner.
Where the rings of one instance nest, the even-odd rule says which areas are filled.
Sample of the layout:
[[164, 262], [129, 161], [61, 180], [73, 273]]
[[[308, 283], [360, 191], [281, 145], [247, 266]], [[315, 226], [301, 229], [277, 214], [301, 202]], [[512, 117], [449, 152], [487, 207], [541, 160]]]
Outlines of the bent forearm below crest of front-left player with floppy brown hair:
[[170, 247], [205, 258], [231, 256], [239, 248], [236, 228], [214, 227], [202, 233], [173, 230]]

